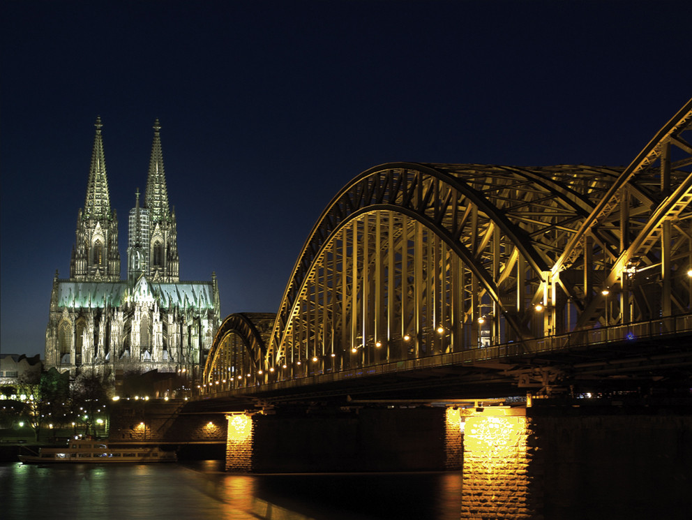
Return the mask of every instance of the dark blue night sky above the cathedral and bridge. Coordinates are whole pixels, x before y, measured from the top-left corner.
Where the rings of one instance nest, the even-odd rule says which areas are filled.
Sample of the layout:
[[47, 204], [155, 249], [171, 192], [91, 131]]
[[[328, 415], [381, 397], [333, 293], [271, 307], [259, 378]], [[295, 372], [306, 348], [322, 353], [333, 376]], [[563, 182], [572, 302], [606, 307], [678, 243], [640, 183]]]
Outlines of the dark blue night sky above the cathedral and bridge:
[[121, 276], [159, 118], [181, 281], [276, 312], [370, 167], [628, 164], [692, 96], [691, 27], [689, 0], [4, 0], [1, 352], [43, 357], [99, 115]]

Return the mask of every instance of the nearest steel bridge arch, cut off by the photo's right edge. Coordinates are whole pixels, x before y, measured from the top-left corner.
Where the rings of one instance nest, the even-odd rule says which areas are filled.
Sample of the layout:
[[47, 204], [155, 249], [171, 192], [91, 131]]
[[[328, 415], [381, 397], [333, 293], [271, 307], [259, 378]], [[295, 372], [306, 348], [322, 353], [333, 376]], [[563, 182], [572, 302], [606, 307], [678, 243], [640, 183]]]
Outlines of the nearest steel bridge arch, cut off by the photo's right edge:
[[[623, 170], [552, 266], [556, 281], [580, 264], [603, 270], [599, 286], [585, 283], [577, 328], [595, 319], [615, 325], [690, 310], [690, 134], [692, 100]], [[594, 247], [606, 235], [619, 237], [615, 250]]]

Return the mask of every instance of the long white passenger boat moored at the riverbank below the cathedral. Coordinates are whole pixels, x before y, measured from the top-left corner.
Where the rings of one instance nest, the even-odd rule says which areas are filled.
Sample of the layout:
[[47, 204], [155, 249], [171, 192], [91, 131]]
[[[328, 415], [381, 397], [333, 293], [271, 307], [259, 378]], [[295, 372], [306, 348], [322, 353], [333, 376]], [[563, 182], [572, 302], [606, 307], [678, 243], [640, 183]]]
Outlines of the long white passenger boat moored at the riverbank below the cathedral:
[[20, 455], [25, 464], [45, 463], [150, 463], [175, 462], [175, 452], [166, 452], [159, 447], [119, 447], [112, 448], [98, 440], [74, 439], [65, 447], [41, 447], [38, 455]]

